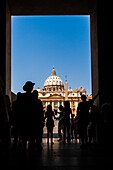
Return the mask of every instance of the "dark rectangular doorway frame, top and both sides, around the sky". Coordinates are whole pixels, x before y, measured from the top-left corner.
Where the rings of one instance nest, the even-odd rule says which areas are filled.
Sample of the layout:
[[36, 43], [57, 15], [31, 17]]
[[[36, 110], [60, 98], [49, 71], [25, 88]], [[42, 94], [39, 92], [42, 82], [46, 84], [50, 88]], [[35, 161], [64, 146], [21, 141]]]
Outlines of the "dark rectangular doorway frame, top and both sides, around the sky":
[[[91, 70], [92, 70], [92, 94], [95, 95], [99, 89], [98, 77], [98, 41], [97, 41], [97, 4], [95, 1], [84, 0], [81, 2], [57, 2], [54, 3], [50, 0], [48, 3], [43, 4], [41, 1], [16, 1], [13, 0], [3, 3], [5, 26], [4, 33], [5, 41], [3, 43], [2, 53], [5, 55], [2, 64], [2, 78], [5, 82], [5, 93], [11, 96], [11, 15], [90, 15], [91, 17]], [[97, 101], [97, 105], [98, 105]]]

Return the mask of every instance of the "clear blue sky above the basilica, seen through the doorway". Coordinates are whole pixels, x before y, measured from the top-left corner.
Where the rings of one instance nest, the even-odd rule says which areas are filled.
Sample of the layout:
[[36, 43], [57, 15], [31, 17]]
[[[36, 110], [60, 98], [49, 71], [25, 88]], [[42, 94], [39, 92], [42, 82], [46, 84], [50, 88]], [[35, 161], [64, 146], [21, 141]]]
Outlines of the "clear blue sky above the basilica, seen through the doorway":
[[53, 66], [68, 87], [92, 93], [90, 16], [12, 16], [11, 35], [14, 93], [27, 80], [43, 88]]

